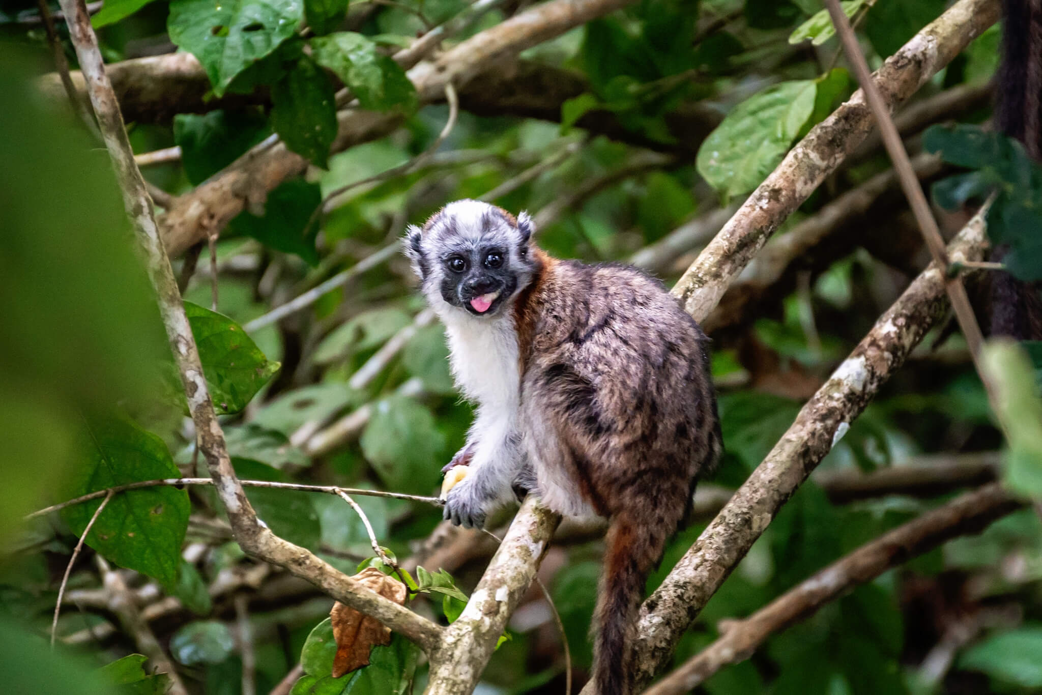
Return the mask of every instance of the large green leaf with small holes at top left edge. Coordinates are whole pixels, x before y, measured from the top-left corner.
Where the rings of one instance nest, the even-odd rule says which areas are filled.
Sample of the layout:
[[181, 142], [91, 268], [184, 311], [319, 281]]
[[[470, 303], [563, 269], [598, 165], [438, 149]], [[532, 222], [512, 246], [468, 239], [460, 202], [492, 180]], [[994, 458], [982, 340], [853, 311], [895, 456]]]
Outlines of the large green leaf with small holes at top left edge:
[[220, 97], [235, 75], [293, 36], [302, 18], [300, 0], [173, 0], [167, 30], [199, 58]]

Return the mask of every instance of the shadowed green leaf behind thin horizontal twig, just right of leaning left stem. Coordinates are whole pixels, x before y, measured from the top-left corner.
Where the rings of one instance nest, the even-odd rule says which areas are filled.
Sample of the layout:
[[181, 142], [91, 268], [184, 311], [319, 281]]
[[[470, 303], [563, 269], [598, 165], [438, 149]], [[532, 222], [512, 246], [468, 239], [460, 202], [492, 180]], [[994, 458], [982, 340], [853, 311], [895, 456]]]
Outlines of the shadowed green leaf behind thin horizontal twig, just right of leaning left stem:
[[[249, 458], [231, 461], [235, 473], [244, 480], [288, 482], [279, 470]], [[246, 497], [256, 510], [257, 517], [268, 524], [276, 536], [305, 548], [318, 549], [322, 539], [319, 514], [312, 503], [315, 493], [276, 488], [247, 488]], [[347, 503], [344, 503], [347, 506]]]

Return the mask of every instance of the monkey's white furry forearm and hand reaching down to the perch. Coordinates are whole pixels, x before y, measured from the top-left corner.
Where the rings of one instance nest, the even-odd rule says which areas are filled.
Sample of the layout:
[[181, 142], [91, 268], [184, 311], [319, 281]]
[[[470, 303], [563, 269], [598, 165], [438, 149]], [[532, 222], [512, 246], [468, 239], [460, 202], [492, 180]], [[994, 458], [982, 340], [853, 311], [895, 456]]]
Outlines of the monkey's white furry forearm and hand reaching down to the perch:
[[513, 483], [524, 466], [516, 414], [481, 407], [470, 428], [467, 446], [457, 454], [470, 463], [467, 476], [448, 491], [445, 518], [454, 524], [481, 527], [488, 514], [514, 499]]

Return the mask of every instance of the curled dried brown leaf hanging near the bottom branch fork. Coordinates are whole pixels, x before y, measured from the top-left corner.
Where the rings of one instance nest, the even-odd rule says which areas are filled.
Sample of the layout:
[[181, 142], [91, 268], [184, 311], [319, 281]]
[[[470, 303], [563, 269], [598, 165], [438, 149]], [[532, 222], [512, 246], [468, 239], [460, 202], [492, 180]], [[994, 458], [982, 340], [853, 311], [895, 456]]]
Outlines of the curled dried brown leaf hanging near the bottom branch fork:
[[[367, 567], [352, 578], [399, 605], [405, 603], [405, 585], [375, 567]], [[334, 678], [368, 666], [369, 650], [374, 644], [391, 644], [390, 627], [340, 601], [333, 603], [329, 619], [333, 639], [337, 640], [337, 656], [332, 660]]]

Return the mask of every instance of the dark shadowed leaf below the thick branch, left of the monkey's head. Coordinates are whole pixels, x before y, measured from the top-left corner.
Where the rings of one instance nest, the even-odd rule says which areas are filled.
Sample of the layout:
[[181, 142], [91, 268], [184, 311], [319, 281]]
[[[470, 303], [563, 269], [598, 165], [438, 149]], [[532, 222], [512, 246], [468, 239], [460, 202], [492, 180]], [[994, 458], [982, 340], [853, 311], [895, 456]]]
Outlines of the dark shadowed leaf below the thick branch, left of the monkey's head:
[[291, 178], [268, 194], [264, 216], [243, 210], [228, 227], [234, 233], [252, 237], [269, 248], [296, 254], [308, 265], [317, 266], [319, 253], [315, 249], [315, 238], [319, 225], [313, 224], [309, 230], [305, 227], [321, 203], [322, 192], [318, 183]]

